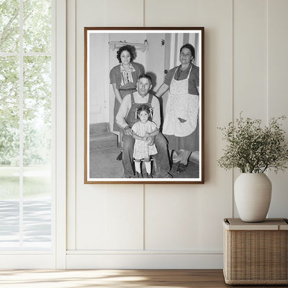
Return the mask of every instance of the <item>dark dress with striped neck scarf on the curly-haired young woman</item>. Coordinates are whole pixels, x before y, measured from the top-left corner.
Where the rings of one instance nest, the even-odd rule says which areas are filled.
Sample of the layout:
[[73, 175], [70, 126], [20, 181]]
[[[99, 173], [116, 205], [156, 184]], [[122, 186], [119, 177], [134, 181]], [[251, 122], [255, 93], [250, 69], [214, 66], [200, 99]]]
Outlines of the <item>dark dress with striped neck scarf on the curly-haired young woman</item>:
[[[122, 64], [119, 64], [111, 69], [110, 71], [110, 84], [116, 84], [116, 88], [120, 92], [120, 96], [123, 99], [127, 94], [133, 93], [136, 91], [136, 83], [138, 76], [144, 74], [143, 66], [138, 63], [130, 63], [130, 69], [127, 73], [123, 69]], [[118, 113], [120, 103], [115, 97], [114, 100], [114, 131], [120, 131], [120, 128], [116, 124], [116, 115]]]

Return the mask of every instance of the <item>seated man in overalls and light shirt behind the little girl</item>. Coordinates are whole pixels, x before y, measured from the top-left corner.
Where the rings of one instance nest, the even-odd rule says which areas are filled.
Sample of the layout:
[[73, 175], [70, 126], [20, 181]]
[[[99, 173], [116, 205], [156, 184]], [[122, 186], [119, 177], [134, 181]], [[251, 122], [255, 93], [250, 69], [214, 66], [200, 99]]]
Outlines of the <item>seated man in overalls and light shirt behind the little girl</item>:
[[[152, 80], [149, 75], [140, 75], [137, 82], [137, 91], [128, 94], [123, 98], [118, 114], [116, 115], [116, 123], [124, 130], [123, 135], [123, 168], [125, 178], [134, 178], [133, 169], [133, 147], [135, 139], [132, 137], [132, 125], [136, 123], [136, 109], [146, 104], [152, 108], [152, 121], [156, 127], [160, 127], [160, 104], [158, 98], [149, 93], [152, 87]], [[168, 156], [167, 141], [164, 136], [159, 133], [149, 138], [148, 145], [155, 143], [157, 154], [154, 155], [156, 162], [156, 174], [154, 178], [172, 178], [168, 172], [170, 171], [170, 163]]]

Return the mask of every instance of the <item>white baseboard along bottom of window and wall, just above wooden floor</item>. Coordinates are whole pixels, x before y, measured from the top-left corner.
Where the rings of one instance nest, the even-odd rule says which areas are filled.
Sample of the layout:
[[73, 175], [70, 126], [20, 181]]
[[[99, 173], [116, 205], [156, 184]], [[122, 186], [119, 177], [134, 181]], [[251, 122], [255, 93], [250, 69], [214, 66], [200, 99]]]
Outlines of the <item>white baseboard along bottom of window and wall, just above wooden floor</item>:
[[[217, 252], [90, 252], [67, 251], [66, 269], [223, 269], [223, 254]], [[55, 269], [55, 259], [53, 255], [1, 255], [0, 269]]]

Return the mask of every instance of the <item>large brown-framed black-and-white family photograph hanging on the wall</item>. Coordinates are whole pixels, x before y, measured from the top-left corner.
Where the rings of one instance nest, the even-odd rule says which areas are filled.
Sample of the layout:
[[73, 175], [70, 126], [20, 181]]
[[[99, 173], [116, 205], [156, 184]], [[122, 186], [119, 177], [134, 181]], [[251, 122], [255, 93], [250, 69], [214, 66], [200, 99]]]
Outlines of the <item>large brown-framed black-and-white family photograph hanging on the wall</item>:
[[204, 183], [204, 28], [84, 28], [84, 183]]

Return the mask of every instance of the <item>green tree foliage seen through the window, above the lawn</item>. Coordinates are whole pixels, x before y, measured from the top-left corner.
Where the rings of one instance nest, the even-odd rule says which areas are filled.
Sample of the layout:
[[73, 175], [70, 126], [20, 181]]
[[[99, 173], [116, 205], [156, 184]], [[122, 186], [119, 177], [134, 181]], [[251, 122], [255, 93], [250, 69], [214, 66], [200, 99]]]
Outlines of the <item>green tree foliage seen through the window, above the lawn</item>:
[[51, 1], [23, 1], [23, 31], [19, 2], [0, 0], [0, 165], [19, 165], [20, 127], [24, 165], [50, 161]]

